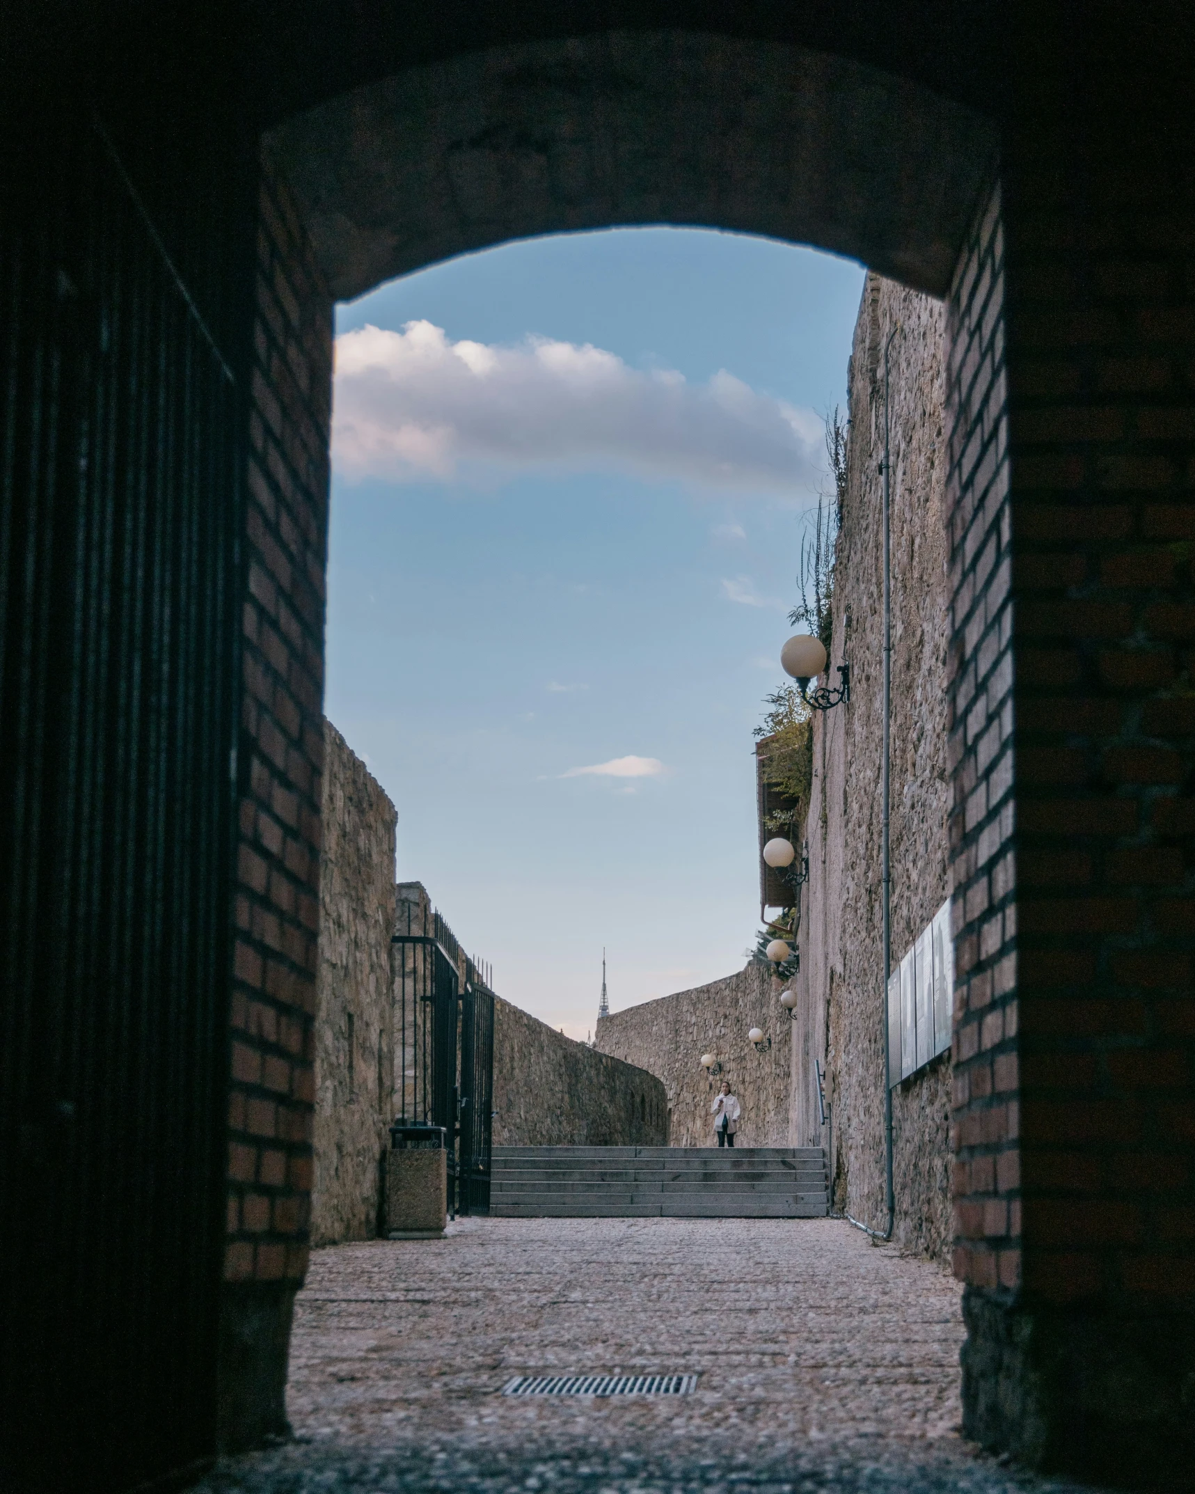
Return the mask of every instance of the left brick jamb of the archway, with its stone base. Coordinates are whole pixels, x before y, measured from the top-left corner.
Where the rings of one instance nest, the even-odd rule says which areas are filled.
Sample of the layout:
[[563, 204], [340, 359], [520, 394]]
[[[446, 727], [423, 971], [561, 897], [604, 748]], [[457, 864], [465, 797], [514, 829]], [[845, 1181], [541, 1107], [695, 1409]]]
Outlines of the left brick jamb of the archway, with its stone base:
[[242, 575], [221, 1445], [285, 1430], [308, 1259], [332, 300], [263, 166]]

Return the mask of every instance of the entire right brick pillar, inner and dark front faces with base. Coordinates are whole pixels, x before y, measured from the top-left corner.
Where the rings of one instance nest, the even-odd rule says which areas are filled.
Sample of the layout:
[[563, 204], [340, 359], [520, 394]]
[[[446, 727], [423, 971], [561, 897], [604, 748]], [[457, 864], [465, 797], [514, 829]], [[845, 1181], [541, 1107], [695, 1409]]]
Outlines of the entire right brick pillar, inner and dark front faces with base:
[[1022, 67], [1065, 73], [1022, 76], [1037, 125], [1005, 140], [1007, 463], [1002, 424], [989, 447], [975, 423], [1002, 344], [983, 235], [952, 297], [963, 1418], [1037, 1466], [1177, 1484], [1195, 1442], [1191, 128], [1173, 79], [1134, 75], [1129, 34], [1122, 61], [1040, 24]]

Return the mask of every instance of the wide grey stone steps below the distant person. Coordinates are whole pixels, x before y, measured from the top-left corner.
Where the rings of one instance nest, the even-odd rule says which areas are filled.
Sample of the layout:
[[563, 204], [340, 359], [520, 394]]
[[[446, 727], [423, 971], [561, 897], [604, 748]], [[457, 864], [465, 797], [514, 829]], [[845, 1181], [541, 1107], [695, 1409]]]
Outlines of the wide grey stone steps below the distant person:
[[490, 1213], [820, 1219], [826, 1158], [784, 1146], [496, 1146]]

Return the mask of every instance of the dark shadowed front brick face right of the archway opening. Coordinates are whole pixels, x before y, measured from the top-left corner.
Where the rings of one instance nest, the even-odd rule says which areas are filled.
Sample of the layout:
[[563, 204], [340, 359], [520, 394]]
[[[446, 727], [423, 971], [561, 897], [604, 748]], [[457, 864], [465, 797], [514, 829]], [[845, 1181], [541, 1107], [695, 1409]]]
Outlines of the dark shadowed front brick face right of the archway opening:
[[1107, 145], [1020, 142], [1010, 418], [1025, 1286], [1123, 1310], [1195, 1304], [1195, 282]]

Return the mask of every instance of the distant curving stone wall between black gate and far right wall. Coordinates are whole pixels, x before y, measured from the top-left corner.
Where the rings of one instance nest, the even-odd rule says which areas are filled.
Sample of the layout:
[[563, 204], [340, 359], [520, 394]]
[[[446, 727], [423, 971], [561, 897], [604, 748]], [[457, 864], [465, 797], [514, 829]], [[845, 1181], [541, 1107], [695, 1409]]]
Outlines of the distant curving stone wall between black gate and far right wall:
[[666, 1146], [653, 1074], [494, 1001], [494, 1146]]

